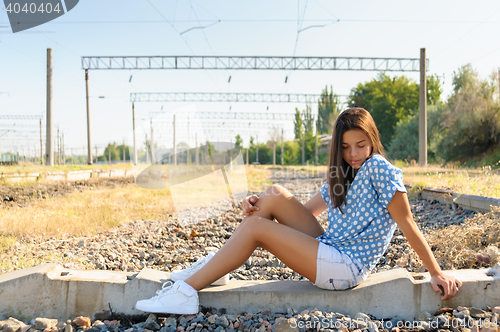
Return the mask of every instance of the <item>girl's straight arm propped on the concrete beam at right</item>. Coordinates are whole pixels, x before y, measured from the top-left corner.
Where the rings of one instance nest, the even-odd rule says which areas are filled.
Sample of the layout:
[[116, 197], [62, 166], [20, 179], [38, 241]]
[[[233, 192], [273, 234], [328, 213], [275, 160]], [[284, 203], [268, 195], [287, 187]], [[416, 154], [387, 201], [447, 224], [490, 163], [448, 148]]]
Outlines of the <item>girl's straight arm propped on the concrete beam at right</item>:
[[387, 206], [387, 210], [389, 210], [392, 218], [398, 224], [406, 239], [429, 271], [431, 275], [431, 286], [434, 291], [439, 293], [439, 286], [441, 286], [444, 290], [441, 300], [453, 297], [462, 286], [462, 282], [441, 271], [427, 241], [413, 221], [406, 193], [396, 191], [391, 202]]

